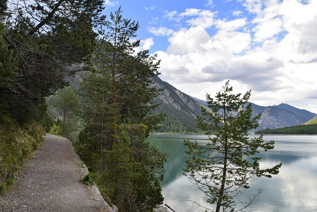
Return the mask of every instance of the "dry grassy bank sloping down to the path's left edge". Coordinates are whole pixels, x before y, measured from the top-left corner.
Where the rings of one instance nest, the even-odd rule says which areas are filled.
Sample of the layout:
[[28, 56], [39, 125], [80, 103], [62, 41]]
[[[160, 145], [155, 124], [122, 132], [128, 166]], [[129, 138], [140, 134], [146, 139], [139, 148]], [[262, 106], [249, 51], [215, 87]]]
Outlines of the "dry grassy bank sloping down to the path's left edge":
[[0, 193], [14, 181], [25, 160], [43, 141], [43, 128], [32, 122], [0, 125]]

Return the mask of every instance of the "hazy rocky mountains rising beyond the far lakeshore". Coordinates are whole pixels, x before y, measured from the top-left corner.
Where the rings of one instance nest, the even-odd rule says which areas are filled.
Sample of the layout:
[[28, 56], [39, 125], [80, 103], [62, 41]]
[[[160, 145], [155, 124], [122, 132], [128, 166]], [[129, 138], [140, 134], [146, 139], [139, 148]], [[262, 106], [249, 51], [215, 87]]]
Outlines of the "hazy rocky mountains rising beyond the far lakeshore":
[[[155, 77], [153, 80], [155, 86], [165, 88], [161, 95], [155, 99], [156, 102], [160, 103], [157, 111], [166, 113], [166, 120], [162, 123], [160, 131], [174, 133], [198, 132], [198, 129], [196, 129], [196, 115], [201, 115], [201, 106], [207, 106], [207, 102], [177, 90], [159, 77]], [[276, 129], [302, 125], [317, 115], [284, 103], [267, 107], [251, 104], [253, 117], [261, 113], [260, 126], [254, 132], [268, 128]]]

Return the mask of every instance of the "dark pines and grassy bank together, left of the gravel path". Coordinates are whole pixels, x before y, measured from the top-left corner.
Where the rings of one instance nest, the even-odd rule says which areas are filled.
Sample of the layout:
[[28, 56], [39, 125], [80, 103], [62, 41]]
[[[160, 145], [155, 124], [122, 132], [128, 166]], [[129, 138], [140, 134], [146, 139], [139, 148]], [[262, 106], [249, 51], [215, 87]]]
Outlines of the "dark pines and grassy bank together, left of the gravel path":
[[103, 2], [1, 0], [0, 192], [37, 149], [52, 119], [45, 98], [86, 62]]

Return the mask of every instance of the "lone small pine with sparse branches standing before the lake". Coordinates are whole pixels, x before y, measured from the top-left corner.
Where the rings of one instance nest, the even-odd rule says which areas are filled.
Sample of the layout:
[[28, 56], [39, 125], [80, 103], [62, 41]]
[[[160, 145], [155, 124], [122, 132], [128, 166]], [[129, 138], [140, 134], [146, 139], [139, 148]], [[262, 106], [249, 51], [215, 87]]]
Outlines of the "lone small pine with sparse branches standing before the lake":
[[251, 206], [261, 190], [253, 197], [244, 198], [243, 191], [249, 188], [249, 182], [278, 174], [282, 165], [260, 169], [261, 158], [257, 153], [260, 148], [273, 149], [274, 141], [264, 141], [263, 135], [248, 139], [248, 131], [259, 126], [260, 115], [251, 118], [251, 104], [246, 106], [251, 91], [240, 97], [241, 94], [232, 94], [232, 90], [227, 81], [223, 92], [218, 92], [215, 99], [207, 94], [211, 110], [202, 107], [202, 112], [211, 122], [197, 117], [198, 127], [206, 132], [210, 142], [205, 145], [185, 141], [189, 154], [185, 175], [206, 194], [207, 202], [215, 205], [216, 212], [243, 211]]

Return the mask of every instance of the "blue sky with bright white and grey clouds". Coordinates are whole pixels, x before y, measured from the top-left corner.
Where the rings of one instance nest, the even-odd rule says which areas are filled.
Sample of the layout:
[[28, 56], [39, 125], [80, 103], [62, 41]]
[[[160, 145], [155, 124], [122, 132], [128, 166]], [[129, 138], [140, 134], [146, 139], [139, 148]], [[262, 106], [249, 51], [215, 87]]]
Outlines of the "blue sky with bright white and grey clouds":
[[139, 22], [159, 77], [199, 99], [225, 81], [250, 102], [317, 113], [317, 0], [106, 0]]

